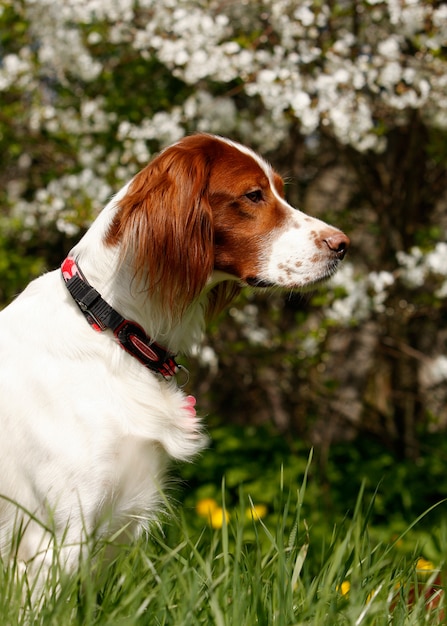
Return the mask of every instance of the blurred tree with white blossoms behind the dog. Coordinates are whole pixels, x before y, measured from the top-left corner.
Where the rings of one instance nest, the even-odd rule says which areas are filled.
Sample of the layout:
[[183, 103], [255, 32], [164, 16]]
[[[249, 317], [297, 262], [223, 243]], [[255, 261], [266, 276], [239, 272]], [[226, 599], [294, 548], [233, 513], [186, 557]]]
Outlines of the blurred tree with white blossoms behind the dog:
[[[444, 3], [3, 0], [0, 30], [3, 299], [38, 259], [59, 260], [154, 152], [192, 131], [229, 135], [295, 181], [292, 201], [326, 218], [338, 206], [337, 224], [354, 235], [352, 262], [319, 312], [286, 306], [285, 333], [300, 349], [296, 363], [275, 369], [277, 421], [299, 426], [297, 407], [315, 405], [340, 416], [332, 423], [382, 424], [396, 441], [403, 432], [408, 453], [427, 409], [447, 420], [442, 394], [427, 404], [447, 380], [438, 327], [447, 296]], [[272, 309], [249, 301], [234, 311], [256, 350], [270, 351]], [[292, 332], [297, 316], [305, 335]], [[341, 354], [355, 355], [356, 342], [368, 359], [363, 369], [361, 358], [345, 363], [340, 376]], [[318, 376], [318, 400], [304, 378], [294, 385], [297, 370]], [[330, 381], [338, 404], [323, 393]]]

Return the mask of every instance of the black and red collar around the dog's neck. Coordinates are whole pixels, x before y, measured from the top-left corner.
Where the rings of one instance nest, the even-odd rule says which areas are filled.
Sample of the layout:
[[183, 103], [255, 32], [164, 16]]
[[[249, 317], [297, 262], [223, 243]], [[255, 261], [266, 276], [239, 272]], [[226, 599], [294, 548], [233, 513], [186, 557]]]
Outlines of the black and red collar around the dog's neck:
[[176, 363], [175, 354], [148, 337], [139, 324], [124, 319], [107, 304], [88, 283], [73, 258], [67, 257], [61, 270], [68, 291], [92, 328], [98, 332], [112, 330], [121, 347], [153, 372], [165, 378], [178, 372], [181, 366]]

